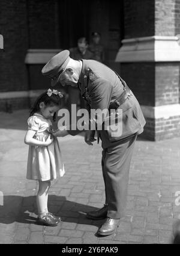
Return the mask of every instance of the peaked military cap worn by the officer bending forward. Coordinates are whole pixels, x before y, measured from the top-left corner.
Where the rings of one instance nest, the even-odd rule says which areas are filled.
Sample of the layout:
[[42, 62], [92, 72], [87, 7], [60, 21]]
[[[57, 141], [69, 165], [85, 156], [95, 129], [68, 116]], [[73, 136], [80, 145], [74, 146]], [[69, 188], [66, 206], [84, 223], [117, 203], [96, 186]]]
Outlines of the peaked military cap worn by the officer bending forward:
[[41, 70], [43, 75], [52, 79], [51, 85], [58, 83], [59, 75], [64, 71], [70, 60], [70, 51], [64, 50], [53, 56]]

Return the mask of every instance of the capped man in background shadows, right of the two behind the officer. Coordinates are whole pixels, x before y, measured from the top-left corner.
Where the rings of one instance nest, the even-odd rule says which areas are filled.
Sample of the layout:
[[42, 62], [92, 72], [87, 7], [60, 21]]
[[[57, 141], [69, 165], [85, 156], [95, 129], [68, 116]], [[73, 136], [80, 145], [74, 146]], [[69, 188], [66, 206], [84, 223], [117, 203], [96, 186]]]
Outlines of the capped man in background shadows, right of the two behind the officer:
[[94, 54], [94, 60], [104, 63], [104, 47], [100, 43], [101, 35], [100, 33], [93, 32], [91, 36], [92, 42], [89, 45], [89, 51]]

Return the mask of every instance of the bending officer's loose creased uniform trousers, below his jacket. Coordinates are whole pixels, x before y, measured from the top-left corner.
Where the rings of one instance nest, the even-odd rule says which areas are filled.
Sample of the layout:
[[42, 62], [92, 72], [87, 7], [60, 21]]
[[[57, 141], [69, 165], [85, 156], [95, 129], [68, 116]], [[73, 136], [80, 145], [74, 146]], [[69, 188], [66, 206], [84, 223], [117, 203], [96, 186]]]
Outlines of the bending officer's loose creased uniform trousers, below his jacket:
[[120, 219], [125, 214], [128, 176], [136, 135], [103, 149], [102, 170], [105, 184], [107, 217]]

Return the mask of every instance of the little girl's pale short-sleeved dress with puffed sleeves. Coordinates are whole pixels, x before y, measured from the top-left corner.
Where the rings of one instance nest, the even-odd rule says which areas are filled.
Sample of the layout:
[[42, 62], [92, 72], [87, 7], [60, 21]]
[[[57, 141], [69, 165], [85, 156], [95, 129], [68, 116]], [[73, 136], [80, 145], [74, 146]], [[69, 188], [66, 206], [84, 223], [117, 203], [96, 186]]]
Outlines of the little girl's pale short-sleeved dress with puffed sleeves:
[[[34, 113], [34, 116], [28, 119], [28, 130], [36, 131], [34, 139], [43, 142], [49, 136], [48, 131], [51, 125], [50, 119], [45, 119], [38, 113]], [[53, 142], [49, 146], [29, 145], [27, 179], [48, 181], [58, 176], [62, 177], [64, 173], [61, 150], [56, 137], [53, 137]]]

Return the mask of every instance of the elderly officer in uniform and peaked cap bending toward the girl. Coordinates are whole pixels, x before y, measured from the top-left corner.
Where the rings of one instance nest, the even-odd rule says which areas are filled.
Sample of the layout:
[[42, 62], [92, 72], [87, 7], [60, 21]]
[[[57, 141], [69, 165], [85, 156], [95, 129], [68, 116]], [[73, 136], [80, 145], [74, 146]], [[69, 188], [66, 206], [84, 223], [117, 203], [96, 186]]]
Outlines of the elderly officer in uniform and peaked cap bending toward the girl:
[[[97, 234], [113, 234], [119, 219], [124, 216], [131, 156], [137, 134], [143, 132], [145, 125], [139, 102], [112, 69], [95, 60], [73, 60], [67, 50], [55, 55], [43, 67], [42, 73], [52, 78], [52, 86], [58, 82], [63, 86], [79, 86], [81, 96], [91, 109], [122, 109], [122, 133], [119, 136], [112, 136], [106, 129], [98, 131], [103, 148], [101, 165], [106, 202], [100, 210], [87, 213], [90, 219], [104, 219]], [[79, 131], [59, 130], [55, 136], [77, 133]], [[85, 142], [92, 145], [94, 140], [94, 131], [86, 131]]]

